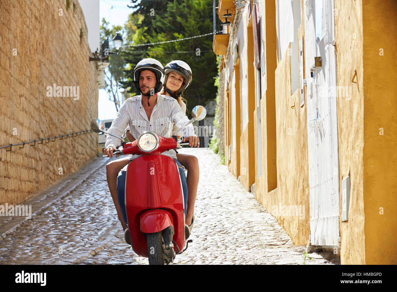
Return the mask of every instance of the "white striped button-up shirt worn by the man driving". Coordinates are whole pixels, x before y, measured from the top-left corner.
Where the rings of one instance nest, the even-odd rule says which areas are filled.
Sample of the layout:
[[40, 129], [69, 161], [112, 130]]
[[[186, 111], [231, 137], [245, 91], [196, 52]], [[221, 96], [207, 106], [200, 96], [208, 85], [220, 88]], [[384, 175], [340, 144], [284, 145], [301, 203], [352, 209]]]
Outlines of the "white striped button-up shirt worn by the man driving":
[[[181, 128], [189, 119], [182, 112], [178, 101], [167, 95], [157, 94], [150, 97], [151, 100], [157, 97], [157, 103], [153, 108], [150, 120], [148, 119], [145, 109], [142, 106], [142, 96], [137, 95], [127, 99], [120, 107], [117, 117], [113, 120], [109, 133], [121, 137], [125, 128], [129, 125], [130, 133], [133, 137], [138, 138], [145, 131], [152, 131], [159, 136], [166, 138], [172, 137], [172, 127], [175, 124]], [[149, 102], [150, 102], [149, 99]], [[146, 102], [146, 98], [145, 98]], [[193, 125], [190, 124], [182, 130], [185, 137], [196, 136]], [[111, 135], [106, 137], [106, 147], [116, 148], [119, 139]], [[174, 150], [165, 151], [162, 154], [176, 159]]]

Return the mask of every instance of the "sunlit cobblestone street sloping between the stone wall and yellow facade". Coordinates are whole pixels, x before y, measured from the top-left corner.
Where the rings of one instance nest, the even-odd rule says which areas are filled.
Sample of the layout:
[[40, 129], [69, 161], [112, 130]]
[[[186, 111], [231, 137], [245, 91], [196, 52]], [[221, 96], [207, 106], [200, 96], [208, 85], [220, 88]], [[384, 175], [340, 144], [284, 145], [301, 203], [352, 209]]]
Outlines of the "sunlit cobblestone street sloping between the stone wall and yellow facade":
[[[198, 157], [200, 182], [193, 243], [173, 264], [303, 264], [303, 247], [292, 244], [218, 155], [203, 148], [180, 153]], [[52, 188], [52, 195], [33, 198], [30, 220], [0, 218], [0, 264], [148, 264], [123, 240], [106, 183], [108, 161], [98, 158]], [[306, 264], [331, 264], [318, 253], [310, 257]]]

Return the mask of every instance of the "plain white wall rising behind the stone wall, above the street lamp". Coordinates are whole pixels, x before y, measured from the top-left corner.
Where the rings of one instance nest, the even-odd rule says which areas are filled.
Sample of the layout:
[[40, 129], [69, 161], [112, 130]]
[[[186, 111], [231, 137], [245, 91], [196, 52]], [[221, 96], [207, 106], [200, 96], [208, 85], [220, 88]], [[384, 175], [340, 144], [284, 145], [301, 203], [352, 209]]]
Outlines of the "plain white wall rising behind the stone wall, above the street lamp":
[[99, 0], [80, 0], [81, 9], [88, 29], [88, 44], [91, 52], [100, 48]]

